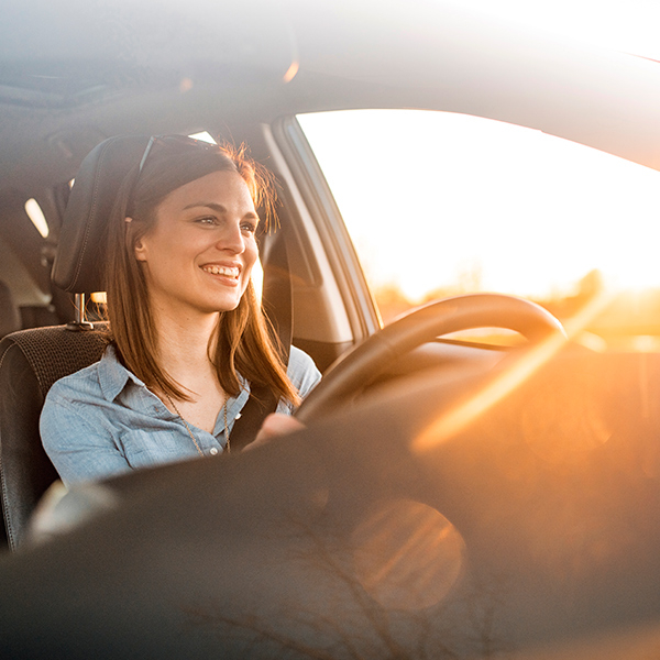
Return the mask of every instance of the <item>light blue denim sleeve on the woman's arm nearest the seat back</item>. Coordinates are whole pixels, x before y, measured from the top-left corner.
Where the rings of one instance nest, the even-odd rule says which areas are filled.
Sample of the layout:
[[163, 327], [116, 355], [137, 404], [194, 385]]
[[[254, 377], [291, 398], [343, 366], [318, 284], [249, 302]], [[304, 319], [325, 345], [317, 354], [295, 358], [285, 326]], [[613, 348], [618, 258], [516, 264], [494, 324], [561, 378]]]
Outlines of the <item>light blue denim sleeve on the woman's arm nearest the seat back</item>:
[[107, 479], [131, 470], [106, 427], [100, 410], [75, 402], [51, 388], [40, 419], [42, 443], [62, 481], [70, 484]]

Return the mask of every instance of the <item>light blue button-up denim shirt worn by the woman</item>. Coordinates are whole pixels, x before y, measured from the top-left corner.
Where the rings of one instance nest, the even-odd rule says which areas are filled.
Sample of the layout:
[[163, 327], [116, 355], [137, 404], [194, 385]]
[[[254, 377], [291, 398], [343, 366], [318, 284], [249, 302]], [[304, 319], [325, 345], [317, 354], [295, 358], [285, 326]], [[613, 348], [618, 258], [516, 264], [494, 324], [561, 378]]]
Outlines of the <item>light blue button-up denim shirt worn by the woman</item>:
[[[292, 346], [288, 376], [307, 396], [321, 375], [311, 358]], [[250, 397], [242, 380], [238, 397], [227, 402], [231, 429]], [[278, 413], [293, 408], [280, 400]], [[224, 415], [220, 410], [213, 432], [189, 425], [205, 455], [223, 451]], [[131, 469], [150, 468], [199, 458], [199, 452], [178, 415], [146, 388], [108, 346], [101, 360], [57, 381], [44, 403], [40, 420], [44, 449], [65, 484], [106, 479]]]

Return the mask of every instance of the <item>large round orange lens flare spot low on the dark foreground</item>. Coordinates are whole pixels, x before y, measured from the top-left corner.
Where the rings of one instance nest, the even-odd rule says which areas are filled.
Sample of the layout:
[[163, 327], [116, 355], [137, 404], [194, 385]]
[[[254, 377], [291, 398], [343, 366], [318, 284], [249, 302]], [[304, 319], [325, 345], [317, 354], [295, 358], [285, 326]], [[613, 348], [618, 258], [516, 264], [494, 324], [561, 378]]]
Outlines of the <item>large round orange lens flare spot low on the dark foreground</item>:
[[436, 605], [463, 571], [463, 537], [442, 514], [419, 502], [382, 504], [351, 541], [358, 580], [383, 607]]

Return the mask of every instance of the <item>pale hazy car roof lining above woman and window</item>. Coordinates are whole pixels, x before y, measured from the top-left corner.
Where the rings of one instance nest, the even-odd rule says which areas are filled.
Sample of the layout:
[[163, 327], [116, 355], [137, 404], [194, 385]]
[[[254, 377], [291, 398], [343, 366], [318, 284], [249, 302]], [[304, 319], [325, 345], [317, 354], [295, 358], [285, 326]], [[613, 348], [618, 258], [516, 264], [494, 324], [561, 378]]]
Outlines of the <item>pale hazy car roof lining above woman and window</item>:
[[[205, 117], [234, 127], [351, 108], [475, 114], [660, 169], [654, 146], [660, 141], [660, 66], [654, 62], [509, 25], [494, 30], [492, 19], [457, 7], [439, 13], [442, 3], [378, 7], [363, 34], [359, 22], [340, 19], [341, 12], [321, 13], [322, 7], [295, 0], [277, 9], [256, 2], [231, 13], [224, 3], [217, 8], [201, 0], [190, 0], [183, 13], [160, 2], [155, 12], [154, 2], [108, 0], [101, 14], [88, 16], [87, 2], [58, 8], [26, 0], [3, 14], [0, 112], [8, 130], [2, 186], [15, 185], [21, 176], [41, 177], [42, 185], [61, 183], [64, 170], [70, 176], [82, 156], [76, 154], [64, 168], [53, 139], [63, 130], [74, 151], [87, 152], [94, 146], [87, 135], [79, 145], [75, 136], [81, 128], [102, 139], [174, 132], [187, 119], [204, 122]], [[191, 16], [197, 4], [202, 20]], [[19, 26], [30, 10], [34, 31], [26, 35]], [[426, 23], [419, 20], [425, 14]], [[80, 31], [85, 16], [94, 20]], [[174, 18], [180, 21], [175, 34]], [[413, 21], [416, 38], [392, 48], [396, 30]], [[239, 38], [232, 25], [249, 30]], [[377, 56], [366, 58], [365, 52]], [[287, 82], [293, 62], [299, 70]]]

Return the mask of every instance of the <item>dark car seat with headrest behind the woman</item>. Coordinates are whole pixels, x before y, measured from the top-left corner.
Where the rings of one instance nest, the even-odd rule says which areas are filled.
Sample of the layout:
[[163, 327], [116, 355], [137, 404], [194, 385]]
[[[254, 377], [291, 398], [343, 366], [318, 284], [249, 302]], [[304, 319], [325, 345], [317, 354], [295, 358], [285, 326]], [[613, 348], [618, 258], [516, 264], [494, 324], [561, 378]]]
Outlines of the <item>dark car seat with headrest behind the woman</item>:
[[[85, 158], [76, 177], [53, 265], [53, 282], [76, 295], [76, 320], [66, 326], [13, 332], [0, 341], [0, 486], [6, 541], [12, 550], [21, 544], [41, 496], [57, 479], [38, 432], [45, 396], [55, 381], [97, 362], [107, 345], [106, 324], [85, 320], [85, 296], [103, 289], [106, 219], [114, 191], [140, 162], [148, 138], [138, 135], [106, 140]], [[268, 257], [264, 263], [264, 298], [271, 300], [272, 307], [275, 301], [276, 324], [288, 346], [290, 278], [282, 235], [272, 241]], [[243, 417], [248, 418], [245, 431], [252, 432], [254, 416]], [[234, 436], [232, 443], [233, 440]]]

